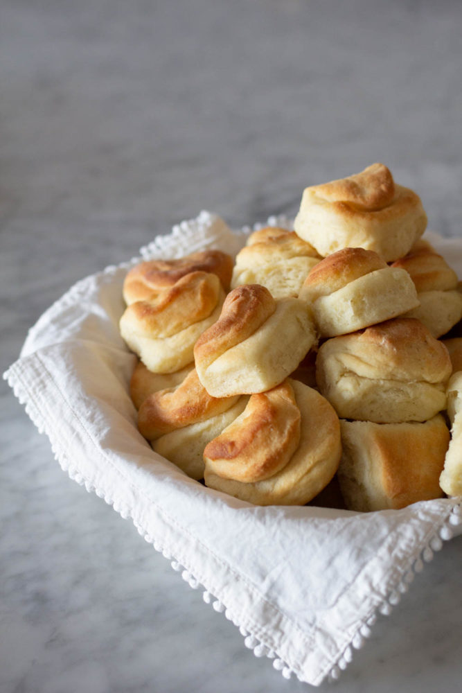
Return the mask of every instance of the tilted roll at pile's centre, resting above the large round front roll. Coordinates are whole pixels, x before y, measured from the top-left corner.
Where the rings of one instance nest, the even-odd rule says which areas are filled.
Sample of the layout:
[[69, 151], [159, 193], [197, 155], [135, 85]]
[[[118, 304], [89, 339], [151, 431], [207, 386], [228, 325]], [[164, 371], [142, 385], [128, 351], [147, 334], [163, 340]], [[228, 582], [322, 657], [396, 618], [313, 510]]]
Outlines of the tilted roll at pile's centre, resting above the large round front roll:
[[197, 374], [214, 397], [265, 392], [296, 369], [315, 340], [302, 301], [275, 301], [258, 284], [238, 286], [195, 344]]

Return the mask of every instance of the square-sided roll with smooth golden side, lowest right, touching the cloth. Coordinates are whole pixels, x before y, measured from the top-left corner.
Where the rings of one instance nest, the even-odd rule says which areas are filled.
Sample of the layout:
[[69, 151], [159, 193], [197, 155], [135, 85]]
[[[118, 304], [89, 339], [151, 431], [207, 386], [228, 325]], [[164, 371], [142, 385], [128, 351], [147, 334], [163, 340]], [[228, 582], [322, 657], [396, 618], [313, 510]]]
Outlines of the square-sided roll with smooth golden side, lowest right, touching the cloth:
[[441, 414], [423, 423], [340, 421], [341, 495], [349, 510], [404, 508], [441, 498], [449, 431]]

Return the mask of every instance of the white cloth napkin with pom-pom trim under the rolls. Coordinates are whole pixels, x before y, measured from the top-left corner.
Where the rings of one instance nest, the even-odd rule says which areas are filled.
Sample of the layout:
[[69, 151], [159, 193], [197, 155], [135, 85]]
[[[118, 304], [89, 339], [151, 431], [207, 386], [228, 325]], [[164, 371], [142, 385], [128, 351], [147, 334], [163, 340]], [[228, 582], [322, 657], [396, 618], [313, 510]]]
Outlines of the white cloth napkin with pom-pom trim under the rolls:
[[[237, 252], [244, 240], [201, 213], [141, 255]], [[461, 243], [432, 241], [462, 276]], [[30, 330], [5, 376], [62, 468], [132, 518], [191, 586], [205, 590], [205, 601], [240, 627], [247, 647], [272, 658], [286, 678], [312, 685], [337, 678], [377, 611], [391, 611], [422, 558], [430, 560], [460, 525], [461, 498], [355, 514], [254, 507], [190, 480], [136, 429], [128, 394], [135, 357], [118, 320], [125, 272], [139, 259], [75, 284]]]

